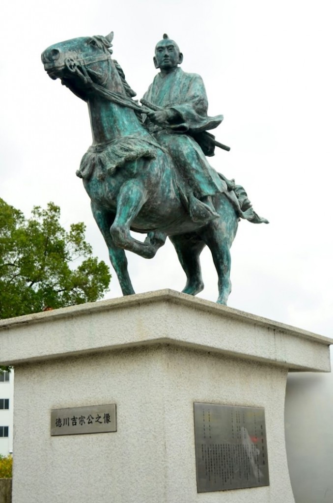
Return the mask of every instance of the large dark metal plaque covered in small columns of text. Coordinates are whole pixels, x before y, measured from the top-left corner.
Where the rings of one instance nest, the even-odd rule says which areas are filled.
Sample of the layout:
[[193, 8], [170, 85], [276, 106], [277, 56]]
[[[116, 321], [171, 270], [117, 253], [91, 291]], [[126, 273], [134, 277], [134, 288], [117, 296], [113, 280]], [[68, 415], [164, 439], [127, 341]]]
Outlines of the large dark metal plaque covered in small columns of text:
[[198, 492], [269, 485], [265, 410], [194, 403]]

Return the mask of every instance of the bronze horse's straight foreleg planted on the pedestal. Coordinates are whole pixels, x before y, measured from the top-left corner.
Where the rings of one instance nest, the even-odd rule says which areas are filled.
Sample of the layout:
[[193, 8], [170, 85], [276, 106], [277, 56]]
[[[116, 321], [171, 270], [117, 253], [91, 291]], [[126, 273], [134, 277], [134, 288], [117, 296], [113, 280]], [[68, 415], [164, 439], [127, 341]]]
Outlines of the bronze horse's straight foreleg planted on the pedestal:
[[115, 246], [110, 234], [110, 226], [114, 220], [114, 215], [107, 213], [93, 202], [91, 206], [96, 223], [99, 226], [99, 229], [102, 232], [108, 246], [110, 262], [116, 272], [121, 291], [123, 292], [123, 295], [131, 295], [135, 292], [127, 270], [125, 251], [122, 248], [117, 248]]

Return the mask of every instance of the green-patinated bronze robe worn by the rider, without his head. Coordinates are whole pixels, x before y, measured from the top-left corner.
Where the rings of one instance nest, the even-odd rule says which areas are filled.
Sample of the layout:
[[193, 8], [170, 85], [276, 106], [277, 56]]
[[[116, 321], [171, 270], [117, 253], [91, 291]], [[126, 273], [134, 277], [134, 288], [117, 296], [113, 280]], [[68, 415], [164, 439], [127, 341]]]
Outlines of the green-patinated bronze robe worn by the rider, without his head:
[[150, 124], [149, 129], [166, 147], [176, 163], [183, 193], [202, 198], [227, 190], [226, 183], [209, 165], [192, 135], [217, 127], [223, 116], [208, 117], [208, 101], [200, 75], [177, 67], [170, 73], [158, 73], [143, 97], [157, 107], [177, 111], [178, 118], [165, 128]]

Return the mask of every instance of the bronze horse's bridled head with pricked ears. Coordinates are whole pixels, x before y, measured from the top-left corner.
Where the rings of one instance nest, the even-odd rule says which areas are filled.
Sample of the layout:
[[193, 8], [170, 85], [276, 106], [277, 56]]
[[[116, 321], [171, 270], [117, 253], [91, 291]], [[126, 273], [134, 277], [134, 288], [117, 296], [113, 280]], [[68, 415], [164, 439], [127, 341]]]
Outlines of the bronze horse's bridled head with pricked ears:
[[[124, 93], [119, 69], [111, 59], [113, 32], [106, 37], [79, 37], [48, 47], [42, 53], [45, 71], [52, 79], [60, 78], [76, 96], [87, 101], [92, 86], [108, 87]], [[111, 75], [112, 74], [112, 75]], [[112, 78], [110, 78], [112, 77]]]

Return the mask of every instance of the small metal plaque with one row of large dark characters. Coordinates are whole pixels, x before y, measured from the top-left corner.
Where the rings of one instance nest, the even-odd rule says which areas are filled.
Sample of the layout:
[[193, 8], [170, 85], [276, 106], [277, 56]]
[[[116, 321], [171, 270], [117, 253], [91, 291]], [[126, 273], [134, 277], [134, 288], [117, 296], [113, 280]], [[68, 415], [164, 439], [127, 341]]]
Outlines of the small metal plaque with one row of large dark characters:
[[115, 403], [51, 410], [51, 436], [116, 431]]

